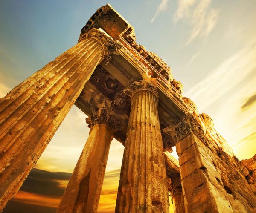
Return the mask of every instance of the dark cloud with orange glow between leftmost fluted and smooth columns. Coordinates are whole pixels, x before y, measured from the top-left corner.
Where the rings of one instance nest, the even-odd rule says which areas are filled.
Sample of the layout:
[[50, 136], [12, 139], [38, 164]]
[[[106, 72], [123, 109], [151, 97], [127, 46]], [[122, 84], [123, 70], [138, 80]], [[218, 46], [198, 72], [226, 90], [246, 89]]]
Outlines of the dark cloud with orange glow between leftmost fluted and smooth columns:
[[3, 212], [55, 212], [71, 175], [32, 169], [20, 191]]

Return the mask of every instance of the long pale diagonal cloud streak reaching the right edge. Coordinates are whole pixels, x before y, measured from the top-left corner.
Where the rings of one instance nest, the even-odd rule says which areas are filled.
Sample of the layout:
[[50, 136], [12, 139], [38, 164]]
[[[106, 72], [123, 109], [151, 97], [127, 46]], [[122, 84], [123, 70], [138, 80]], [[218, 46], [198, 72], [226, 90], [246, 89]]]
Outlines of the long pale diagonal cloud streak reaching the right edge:
[[185, 92], [203, 110], [224, 95], [256, 67], [256, 43], [224, 60], [199, 83]]

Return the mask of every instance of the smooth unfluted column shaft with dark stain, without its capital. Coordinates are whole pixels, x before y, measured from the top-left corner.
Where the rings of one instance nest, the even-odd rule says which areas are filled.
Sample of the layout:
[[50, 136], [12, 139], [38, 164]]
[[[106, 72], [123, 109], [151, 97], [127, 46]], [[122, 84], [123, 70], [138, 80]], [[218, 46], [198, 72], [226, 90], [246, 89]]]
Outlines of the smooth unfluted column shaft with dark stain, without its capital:
[[90, 130], [57, 212], [96, 213], [113, 131], [105, 124]]

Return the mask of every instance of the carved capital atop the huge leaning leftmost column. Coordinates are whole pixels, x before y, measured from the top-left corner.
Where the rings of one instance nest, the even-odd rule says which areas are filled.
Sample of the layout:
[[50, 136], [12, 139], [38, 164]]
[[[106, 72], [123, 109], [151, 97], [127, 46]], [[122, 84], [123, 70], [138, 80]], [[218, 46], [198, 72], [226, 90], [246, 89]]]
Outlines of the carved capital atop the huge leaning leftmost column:
[[122, 45], [116, 43], [115, 41], [111, 40], [110, 37], [105, 35], [103, 32], [101, 32], [98, 29], [91, 29], [90, 31], [84, 33], [81, 35], [78, 42], [84, 39], [93, 39], [96, 40], [102, 47], [102, 62], [105, 64], [108, 64], [111, 60], [111, 54], [119, 54], [118, 50], [122, 47]]

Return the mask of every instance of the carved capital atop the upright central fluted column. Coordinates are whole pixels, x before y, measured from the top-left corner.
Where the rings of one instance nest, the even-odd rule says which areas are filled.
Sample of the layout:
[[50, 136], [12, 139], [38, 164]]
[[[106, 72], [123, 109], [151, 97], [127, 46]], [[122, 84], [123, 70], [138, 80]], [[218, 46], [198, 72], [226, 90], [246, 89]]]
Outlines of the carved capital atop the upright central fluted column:
[[146, 81], [134, 81], [134, 83], [131, 83], [130, 86], [126, 87], [124, 90], [124, 93], [131, 98], [140, 91], [148, 91], [151, 92], [158, 100], [158, 93], [157, 88], [153, 86], [153, 84], [146, 82]]

